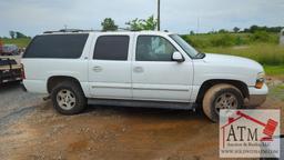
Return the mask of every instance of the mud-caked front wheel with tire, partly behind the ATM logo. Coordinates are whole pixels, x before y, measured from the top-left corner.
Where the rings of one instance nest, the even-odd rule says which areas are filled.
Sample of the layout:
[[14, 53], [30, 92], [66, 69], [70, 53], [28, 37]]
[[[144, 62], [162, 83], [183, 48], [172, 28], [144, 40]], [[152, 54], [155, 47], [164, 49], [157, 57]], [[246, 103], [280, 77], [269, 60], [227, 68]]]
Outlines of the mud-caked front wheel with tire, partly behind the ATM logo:
[[219, 122], [220, 109], [241, 109], [243, 103], [244, 98], [237, 88], [221, 83], [213, 86], [206, 91], [202, 101], [202, 108], [211, 121]]

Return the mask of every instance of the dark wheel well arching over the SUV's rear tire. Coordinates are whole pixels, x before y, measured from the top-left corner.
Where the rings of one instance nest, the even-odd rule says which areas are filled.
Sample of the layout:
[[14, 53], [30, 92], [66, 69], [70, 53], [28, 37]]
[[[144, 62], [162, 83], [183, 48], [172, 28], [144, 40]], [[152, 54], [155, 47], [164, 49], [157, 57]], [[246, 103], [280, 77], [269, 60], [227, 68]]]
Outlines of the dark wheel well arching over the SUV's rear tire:
[[48, 92], [51, 93], [52, 89], [59, 84], [62, 81], [72, 81], [74, 83], [77, 83], [81, 89], [81, 84], [79, 82], [78, 79], [73, 78], [73, 77], [67, 77], [67, 76], [54, 76], [54, 77], [50, 77], [48, 80]]

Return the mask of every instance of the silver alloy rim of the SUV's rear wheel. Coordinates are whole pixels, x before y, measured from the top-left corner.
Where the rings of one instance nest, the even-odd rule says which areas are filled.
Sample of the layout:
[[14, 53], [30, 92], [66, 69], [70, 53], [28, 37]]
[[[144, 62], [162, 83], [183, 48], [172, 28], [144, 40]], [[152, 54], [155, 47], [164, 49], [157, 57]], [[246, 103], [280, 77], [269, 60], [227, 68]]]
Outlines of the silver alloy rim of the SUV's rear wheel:
[[70, 110], [75, 107], [75, 96], [70, 90], [60, 90], [57, 94], [57, 102], [63, 110]]

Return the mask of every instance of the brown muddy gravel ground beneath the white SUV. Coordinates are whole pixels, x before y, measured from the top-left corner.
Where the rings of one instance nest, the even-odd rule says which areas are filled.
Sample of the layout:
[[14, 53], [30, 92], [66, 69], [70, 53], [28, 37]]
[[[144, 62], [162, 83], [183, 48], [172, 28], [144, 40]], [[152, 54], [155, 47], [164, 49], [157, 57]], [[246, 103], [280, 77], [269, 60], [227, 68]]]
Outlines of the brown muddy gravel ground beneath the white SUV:
[[[201, 111], [90, 106], [61, 116], [19, 83], [0, 97], [0, 159], [219, 159], [219, 124]], [[262, 108], [283, 106], [271, 94]]]

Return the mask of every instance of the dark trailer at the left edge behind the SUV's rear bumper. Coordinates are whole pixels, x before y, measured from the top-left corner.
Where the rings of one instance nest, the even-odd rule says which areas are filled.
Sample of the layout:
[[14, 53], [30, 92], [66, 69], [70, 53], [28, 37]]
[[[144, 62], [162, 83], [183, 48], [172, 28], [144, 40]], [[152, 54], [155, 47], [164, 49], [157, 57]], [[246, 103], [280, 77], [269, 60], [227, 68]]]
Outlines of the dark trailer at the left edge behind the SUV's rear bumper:
[[23, 67], [16, 59], [0, 57], [0, 84], [21, 81], [23, 79]]

